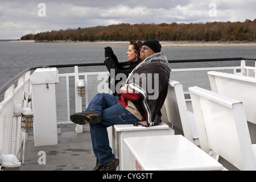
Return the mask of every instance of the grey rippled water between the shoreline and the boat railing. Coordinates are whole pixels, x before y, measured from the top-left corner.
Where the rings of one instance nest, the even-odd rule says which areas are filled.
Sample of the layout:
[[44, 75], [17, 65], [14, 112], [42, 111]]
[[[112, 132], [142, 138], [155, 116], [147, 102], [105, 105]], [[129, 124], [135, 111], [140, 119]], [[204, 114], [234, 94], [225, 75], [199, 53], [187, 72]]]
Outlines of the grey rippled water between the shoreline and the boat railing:
[[[28, 67], [54, 64], [103, 63], [104, 47], [111, 46], [118, 60], [127, 61], [129, 44], [68, 44], [0, 42], [0, 86]], [[256, 58], [256, 46], [163, 47], [168, 60], [209, 59], [222, 57]], [[237, 61], [225, 63], [232, 66]], [[222, 63], [175, 63], [171, 68], [223, 66]], [[218, 65], [216, 65], [218, 64]], [[254, 63], [251, 61], [251, 65]], [[238, 63], [239, 65], [239, 63]], [[71, 68], [70, 68], [71, 69]], [[66, 69], [59, 69], [59, 73]], [[73, 72], [73, 68], [71, 70]], [[80, 72], [107, 71], [106, 67], [80, 68]]]

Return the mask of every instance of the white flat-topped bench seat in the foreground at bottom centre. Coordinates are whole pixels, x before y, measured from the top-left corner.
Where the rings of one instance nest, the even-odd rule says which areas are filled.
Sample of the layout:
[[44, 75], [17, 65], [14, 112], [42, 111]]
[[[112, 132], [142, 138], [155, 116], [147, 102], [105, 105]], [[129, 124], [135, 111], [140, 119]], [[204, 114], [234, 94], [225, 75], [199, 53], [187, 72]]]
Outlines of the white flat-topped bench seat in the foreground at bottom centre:
[[222, 170], [223, 166], [183, 135], [125, 138], [129, 170]]

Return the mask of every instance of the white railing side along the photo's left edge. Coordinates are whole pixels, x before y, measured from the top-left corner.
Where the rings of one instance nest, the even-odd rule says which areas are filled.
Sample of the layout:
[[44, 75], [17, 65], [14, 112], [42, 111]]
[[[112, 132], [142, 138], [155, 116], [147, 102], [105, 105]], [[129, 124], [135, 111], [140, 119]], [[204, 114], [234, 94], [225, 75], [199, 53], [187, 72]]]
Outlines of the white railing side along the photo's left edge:
[[5, 99], [0, 103], [0, 151], [2, 155], [20, 155], [23, 142], [21, 117], [15, 117], [14, 106], [24, 106], [24, 94], [30, 93], [30, 71], [19, 78], [5, 92]]

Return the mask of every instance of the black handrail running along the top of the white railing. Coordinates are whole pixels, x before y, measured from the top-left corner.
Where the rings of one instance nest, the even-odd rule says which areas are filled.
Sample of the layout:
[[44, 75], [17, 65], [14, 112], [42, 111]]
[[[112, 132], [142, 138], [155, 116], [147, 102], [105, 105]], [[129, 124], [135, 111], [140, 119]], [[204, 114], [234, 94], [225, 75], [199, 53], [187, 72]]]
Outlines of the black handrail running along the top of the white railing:
[[[193, 63], [193, 62], [209, 62], [209, 61], [238, 61], [238, 60], [254, 60], [256, 61], [256, 59], [251, 59], [251, 58], [244, 58], [244, 57], [231, 57], [231, 58], [218, 58], [218, 59], [191, 59], [191, 60], [168, 60], [168, 63]], [[121, 64], [125, 65], [129, 63], [128, 61], [123, 62]], [[50, 68], [67, 68], [67, 67], [94, 67], [94, 66], [103, 66], [105, 65], [104, 63], [80, 63], [80, 64], [59, 64], [59, 65], [47, 65], [47, 67]], [[3, 84], [0, 87], [0, 96], [2, 96], [2, 94], [10, 88], [11, 85], [13, 85], [16, 81], [19, 80], [20, 77], [22, 77], [24, 75], [24, 73], [28, 72], [28, 71], [32, 71], [35, 70], [37, 68], [43, 68], [43, 66], [41, 67], [31, 67], [31, 68], [27, 68], [24, 71], [20, 72], [18, 75], [16, 75], [15, 77], [11, 78], [9, 81], [7, 81], [5, 84]]]

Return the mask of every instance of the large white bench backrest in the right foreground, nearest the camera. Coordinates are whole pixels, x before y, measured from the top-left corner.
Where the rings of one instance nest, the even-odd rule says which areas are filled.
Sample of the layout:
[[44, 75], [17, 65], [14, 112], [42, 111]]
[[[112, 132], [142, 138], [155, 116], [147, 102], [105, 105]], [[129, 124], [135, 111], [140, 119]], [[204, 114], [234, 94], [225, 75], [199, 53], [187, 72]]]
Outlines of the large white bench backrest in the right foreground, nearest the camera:
[[251, 144], [243, 103], [197, 86], [189, 92], [201, 149], [240, 170], [255, 170], [256, 145]]

